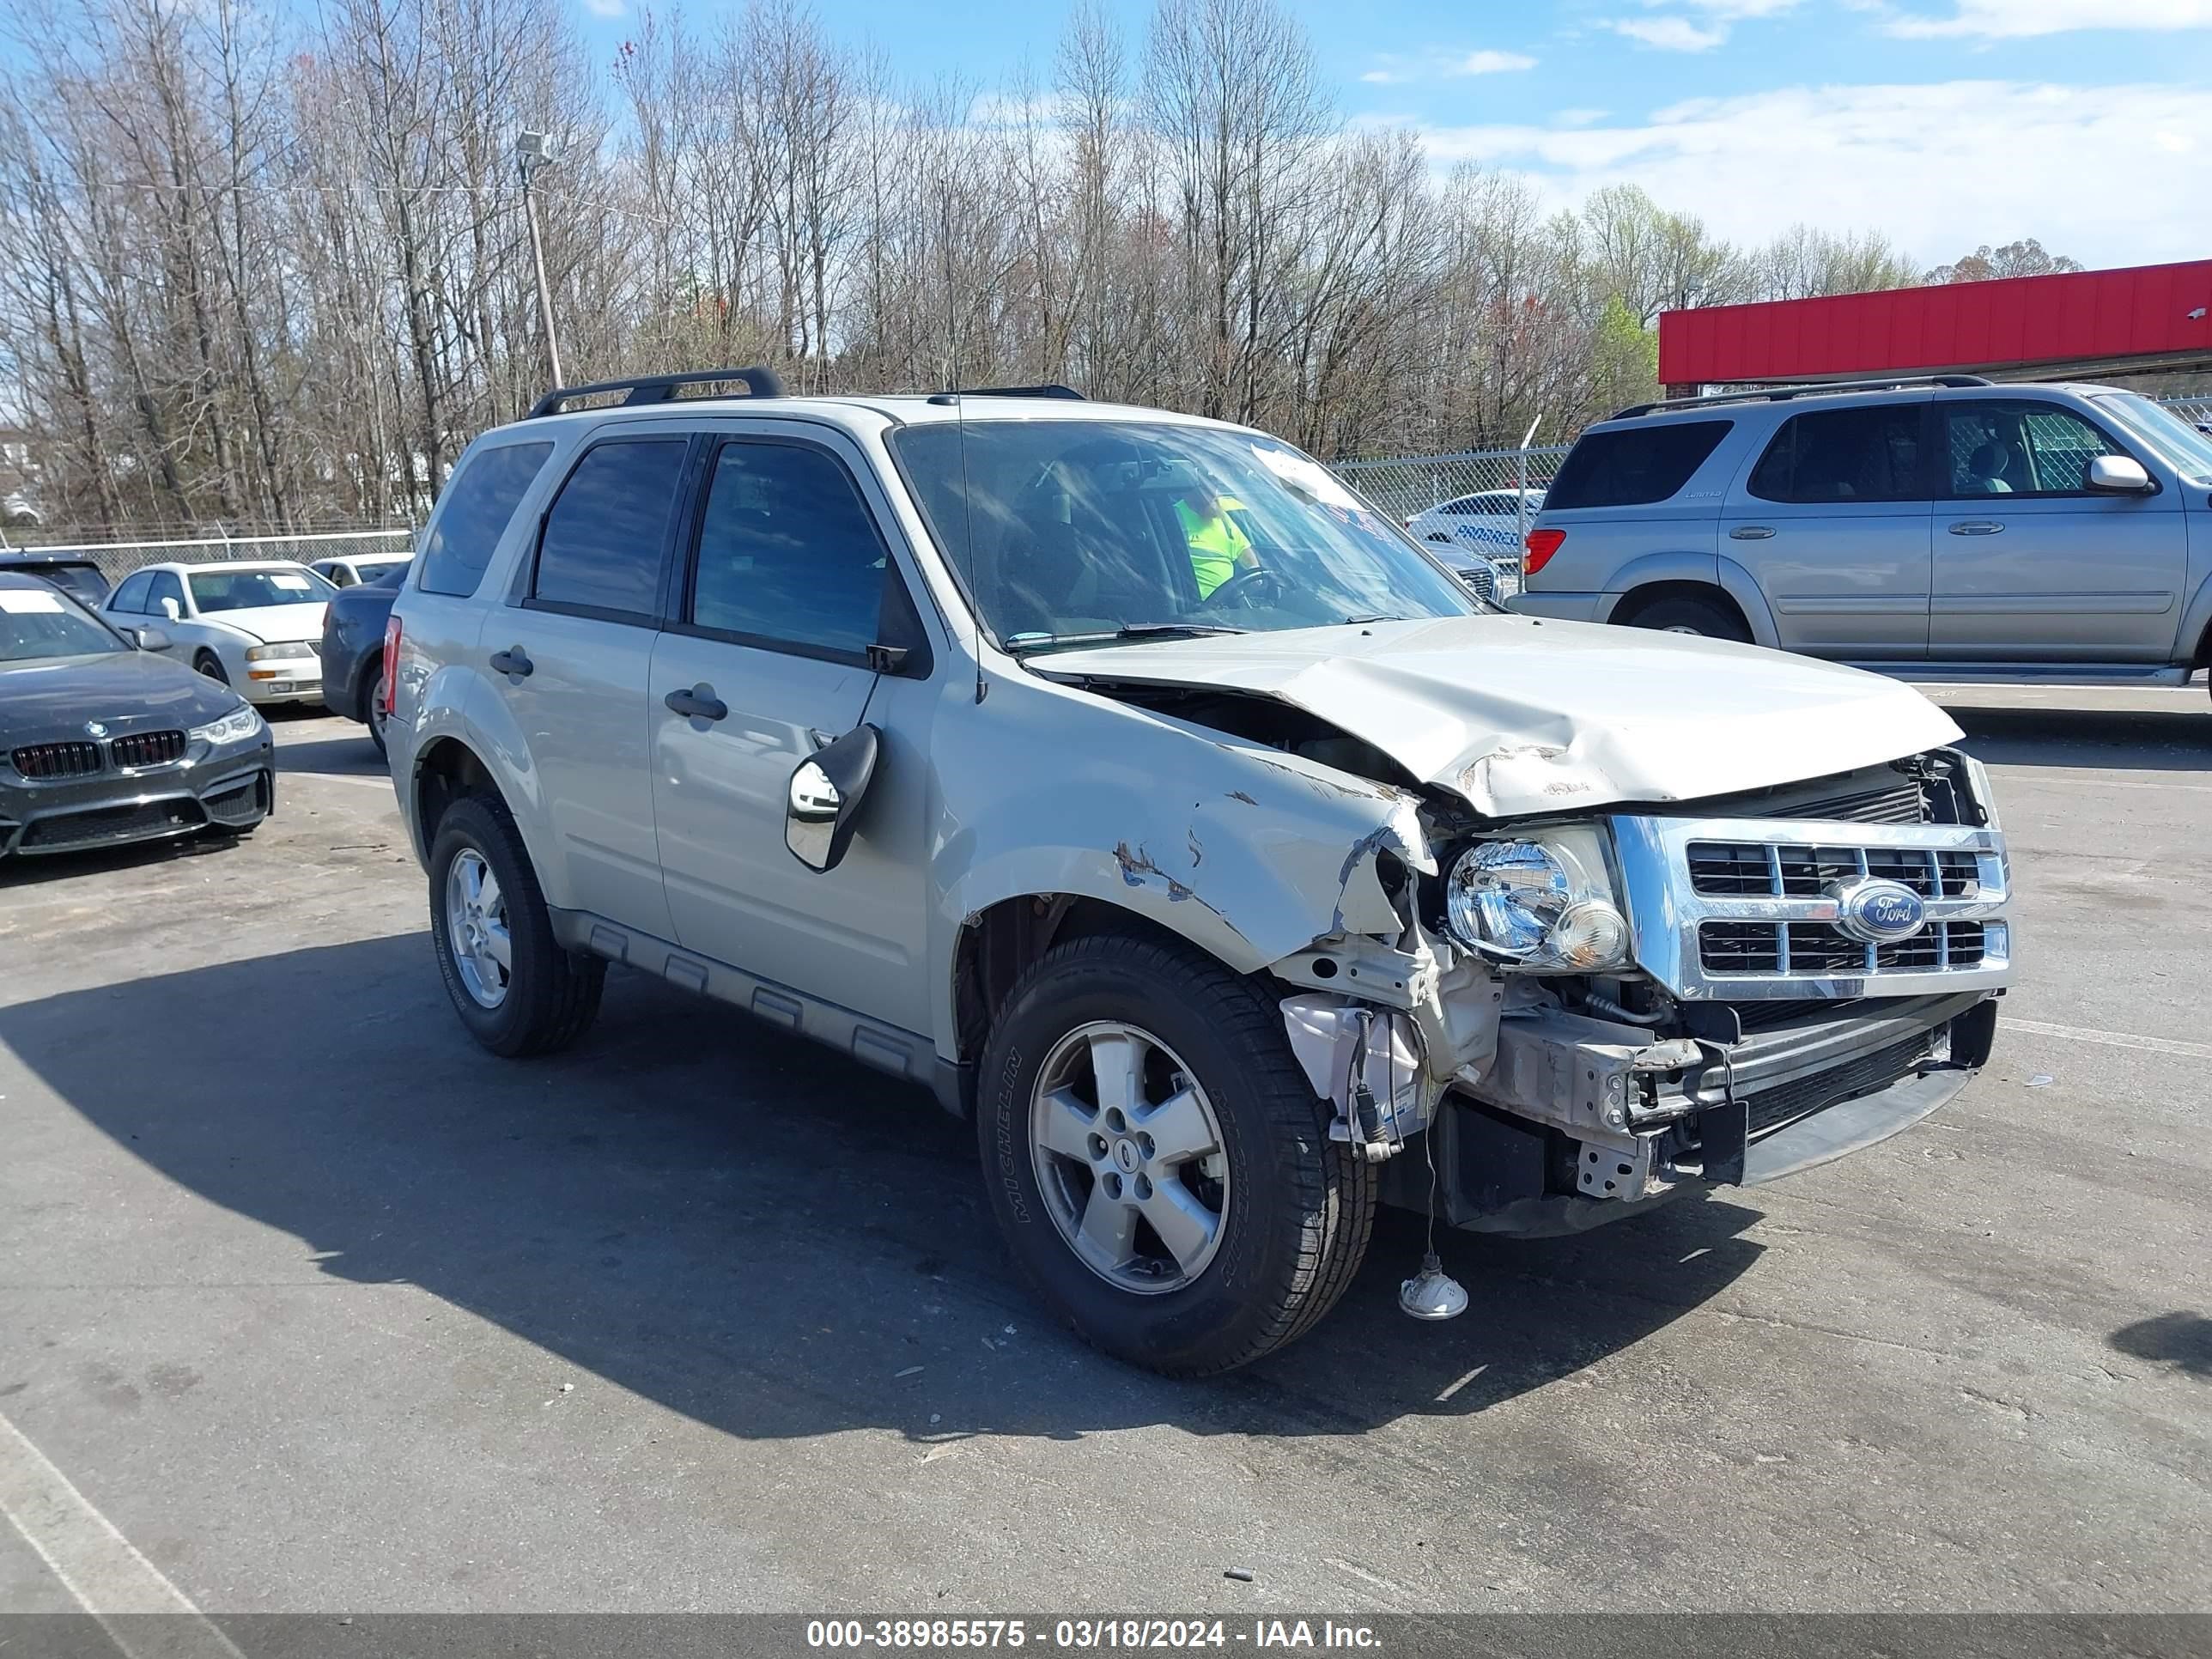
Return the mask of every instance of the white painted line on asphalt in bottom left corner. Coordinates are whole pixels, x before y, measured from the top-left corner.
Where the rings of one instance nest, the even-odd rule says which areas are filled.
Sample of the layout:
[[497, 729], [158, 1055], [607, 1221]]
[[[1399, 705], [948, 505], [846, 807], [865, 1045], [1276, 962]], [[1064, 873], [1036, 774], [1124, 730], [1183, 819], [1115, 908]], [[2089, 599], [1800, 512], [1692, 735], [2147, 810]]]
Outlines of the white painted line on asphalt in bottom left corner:
[[[237, 1646], [0, 1416], [0, 1513], [126, 1659], [243, 1659]], [[126, 1615], [164, 1613], [137, 1621]]]

